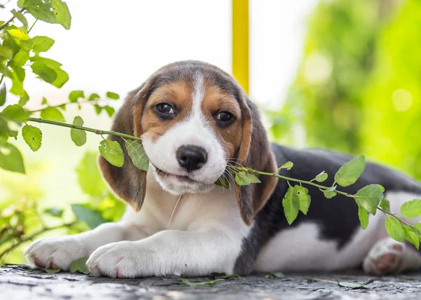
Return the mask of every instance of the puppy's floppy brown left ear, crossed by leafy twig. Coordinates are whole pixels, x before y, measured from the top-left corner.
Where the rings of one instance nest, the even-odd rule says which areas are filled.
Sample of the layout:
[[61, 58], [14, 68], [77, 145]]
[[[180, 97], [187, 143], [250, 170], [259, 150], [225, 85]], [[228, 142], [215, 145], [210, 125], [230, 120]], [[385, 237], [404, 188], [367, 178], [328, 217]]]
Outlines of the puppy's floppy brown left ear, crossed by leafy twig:
[[[128, 94], [126, 100], [114, 117], [112, 130], [135, 135], [142, 135], [140, 119], [142, 109], [153, 86], [153, 79], [149, 79], [140, 88]], [[146, 192], [146, 173], [133, 165], [131, 158], [127, 155], [124, 140], [116, 135], [109, 135], [108, 139], [119, 142], [124, 151], [124, 164], [121, 168], [115, 167], [105, 160], [101, 155], [98, 158], [100, 170], [109, 187], [119, 198], [126, 201], [138, 212], [142, 207]]]

